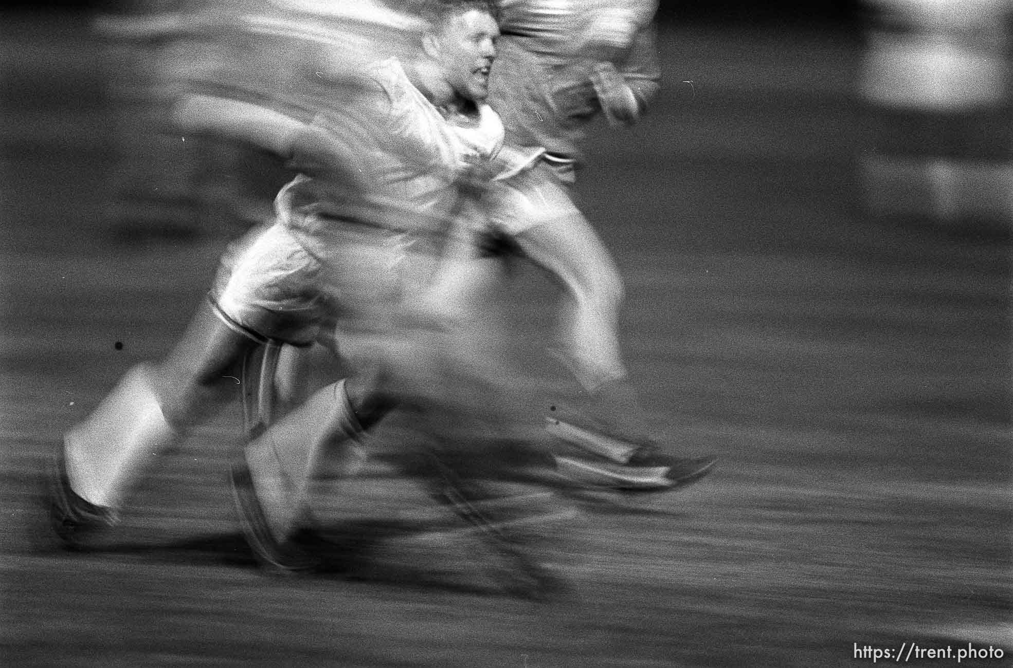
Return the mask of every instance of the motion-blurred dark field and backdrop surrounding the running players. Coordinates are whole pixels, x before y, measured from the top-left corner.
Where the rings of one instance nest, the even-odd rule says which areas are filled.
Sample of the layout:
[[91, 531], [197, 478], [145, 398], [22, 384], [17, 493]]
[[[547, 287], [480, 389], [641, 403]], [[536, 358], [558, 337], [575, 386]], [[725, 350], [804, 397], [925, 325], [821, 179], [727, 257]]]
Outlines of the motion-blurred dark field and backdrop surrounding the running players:
[[[831, 666], [910, 643], [1010, 665], [1009, 2], [661, 3], [663, 93], [603, 128], [578, 191], [647, 406], [722, 461], [582, 509], [575, 594], [547, 606], [499, 594], [467, 537], [263, 578], [228, 417], [107, 550], [40, 548], [45, 457], [178, 336], [285, 172], [163, 132], [177, 45], [115, 19], [173, 3], [20, 4], [0, 14], [4, 665]], [[537, 339], [554, 294], [527, 270], [514, 289]], [[415, 517], [381, 474], [332, 518]]]

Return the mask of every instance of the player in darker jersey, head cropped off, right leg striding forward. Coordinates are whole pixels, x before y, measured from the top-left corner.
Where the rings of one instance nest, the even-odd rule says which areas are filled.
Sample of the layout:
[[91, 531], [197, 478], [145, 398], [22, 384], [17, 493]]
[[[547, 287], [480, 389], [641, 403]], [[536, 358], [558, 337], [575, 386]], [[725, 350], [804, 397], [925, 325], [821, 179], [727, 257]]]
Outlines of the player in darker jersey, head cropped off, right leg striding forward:
[[[715, 460], [666, 453], [649, 431], [619, 349], [622, 280], [571, 193], [592, 121], [604, 114], [613, 126], [631, 124], [657, 91], [656, 2], [496, 4], [501, 38], [489, 77], [489, 103], [503, 118], [509, 146], [545, 152], [534, 169], [490, 188], [485, 206], [493, 230], [566, 286], [570, 301], [563, 314], [563, 352], [591, 399], [582, 412], [549, 419], [550, 432], [583, 454], [557, 456], [559, 470], [591, 484], [629, 490], [664, 490], [698, 480]], [[459, 297], [472, 289], [474, 269], [460, 272]], [[455, 291], [453, 285], [444, 289], [448, 299]]]

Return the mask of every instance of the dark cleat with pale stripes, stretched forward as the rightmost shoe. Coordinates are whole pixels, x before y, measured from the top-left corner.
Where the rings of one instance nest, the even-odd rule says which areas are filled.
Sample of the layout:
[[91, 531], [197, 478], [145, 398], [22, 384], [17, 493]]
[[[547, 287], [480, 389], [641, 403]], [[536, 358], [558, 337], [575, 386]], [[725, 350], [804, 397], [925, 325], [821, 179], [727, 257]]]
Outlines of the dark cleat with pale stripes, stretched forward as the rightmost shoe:
[[713, 456], [678, 457], [653, 443], [634, 443], [558, 418], [546, 418], [549, 433], [597, 456], [555, 455], [556, 470], [589, 487], [623, 492], [660, 492], [685, 487], [714, 468]]

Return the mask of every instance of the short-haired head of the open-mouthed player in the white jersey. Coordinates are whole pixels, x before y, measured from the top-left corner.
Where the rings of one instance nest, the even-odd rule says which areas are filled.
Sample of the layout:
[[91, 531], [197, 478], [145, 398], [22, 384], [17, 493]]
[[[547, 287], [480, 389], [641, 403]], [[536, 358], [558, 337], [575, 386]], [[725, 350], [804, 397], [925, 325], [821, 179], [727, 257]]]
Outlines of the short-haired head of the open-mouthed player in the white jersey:
[[489, 68], [496, 57], [499, 27], [488, 12], [469, 9], [444, 24], [437, 35], [439, 60], [447, 83], [470, 100], [489, 92]]

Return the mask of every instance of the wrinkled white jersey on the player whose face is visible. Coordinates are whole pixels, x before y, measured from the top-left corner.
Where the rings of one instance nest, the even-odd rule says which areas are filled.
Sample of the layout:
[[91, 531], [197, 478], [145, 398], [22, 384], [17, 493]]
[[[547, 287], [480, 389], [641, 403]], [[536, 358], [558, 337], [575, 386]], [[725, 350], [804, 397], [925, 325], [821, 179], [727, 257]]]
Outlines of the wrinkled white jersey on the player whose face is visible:
[[371, 68], [349, 97], [314, 120], [343, 147], [345, 158], [297, 155], [301, 173], [276, 201], [280, 219], [317, 256], [326, 255], [334, 225], [440, 228], [453, 212], [460, 179], [494, 158], [503, 143], [502, 122], [491, 107], [479, 104], [474, 117], [448, 116], [396, 59]]

